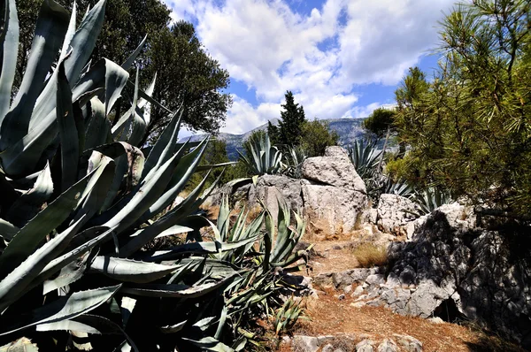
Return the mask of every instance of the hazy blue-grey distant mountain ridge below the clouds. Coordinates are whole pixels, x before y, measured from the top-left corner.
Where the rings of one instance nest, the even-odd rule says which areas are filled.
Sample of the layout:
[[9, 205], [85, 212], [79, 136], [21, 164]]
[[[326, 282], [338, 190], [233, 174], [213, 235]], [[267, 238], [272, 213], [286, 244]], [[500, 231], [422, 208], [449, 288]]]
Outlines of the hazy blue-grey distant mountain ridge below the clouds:
[[[366, 131], [361, 126], [361, 123], [364, 119], [326, 119], [329, 123], [329, 129], [334, 130], [339, 134], [339, 144], [343, 147], [348, 147], [352, 142], [363, 138], [366, 135]], [[273, 125], [278, 124], [278, 119], [272, 119], [271, 122]], [[258, 130], [266, 130], [267, 124], [258, 126], [255, 129], [250, 130], [245, 134], [224, 134], [219, 133], [217, 138], [219, 140], [225, 141], [227, 143], [227, 156], [230, 160], [236, 160], [238, 158], [238, 153], [236, 149], [242, 150], [242, 143], [245, 141], [250, 134]], [[191, 141], [201, 141], [204, 139], [206, 134], [195, 134], [191, 136]], [[188, 140], [190, 137], [181, 139], [180, 142]]]

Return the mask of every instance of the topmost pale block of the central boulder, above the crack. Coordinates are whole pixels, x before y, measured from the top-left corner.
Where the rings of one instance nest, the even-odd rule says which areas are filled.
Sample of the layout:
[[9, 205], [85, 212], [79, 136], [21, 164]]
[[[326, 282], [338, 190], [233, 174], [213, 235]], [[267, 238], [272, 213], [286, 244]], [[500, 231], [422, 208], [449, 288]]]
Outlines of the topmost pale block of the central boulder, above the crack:
[[351, 189], [366, 194], [366, 185], [358, 176], [345, 149], [327, 147], [324, 157], [309, 157], [302, 166], [306, 180]]

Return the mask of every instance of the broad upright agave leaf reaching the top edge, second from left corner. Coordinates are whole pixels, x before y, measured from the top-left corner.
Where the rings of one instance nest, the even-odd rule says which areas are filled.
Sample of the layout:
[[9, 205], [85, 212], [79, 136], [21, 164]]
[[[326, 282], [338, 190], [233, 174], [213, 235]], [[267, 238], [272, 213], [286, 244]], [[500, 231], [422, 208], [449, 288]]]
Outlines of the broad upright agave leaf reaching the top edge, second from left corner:
[[[50, 71], [65, 37], [69, 17], [68, 11], [55, 1], [42, 2], [27, 58], [26, 72], [13, 100], [12, 110], [5, 116], [2, 124], [2, 149], [27, 134], [31, 113], [44, 87], [46, 74]], [[10, 49], [11, 52], [17, 55], [17, 50]]]

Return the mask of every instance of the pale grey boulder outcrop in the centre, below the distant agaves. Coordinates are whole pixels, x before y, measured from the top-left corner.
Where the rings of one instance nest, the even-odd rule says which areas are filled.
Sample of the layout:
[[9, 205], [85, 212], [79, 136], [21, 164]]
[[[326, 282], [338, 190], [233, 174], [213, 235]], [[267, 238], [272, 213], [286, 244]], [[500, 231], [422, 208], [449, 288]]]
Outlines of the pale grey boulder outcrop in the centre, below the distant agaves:
[[256, 186], [230, 183], [210, 197], [216, 205], [225, 195], [250, 206], [265, 203], [276, 218], [281, 196], [292, 210], [301, 210], [310, 225], [324, 233], [349, 233], [367, 206], [366, 186], [341, 147], [328, 147], [324, 157], [310, 157], [302, 166], [303, 179], [263, 175]]

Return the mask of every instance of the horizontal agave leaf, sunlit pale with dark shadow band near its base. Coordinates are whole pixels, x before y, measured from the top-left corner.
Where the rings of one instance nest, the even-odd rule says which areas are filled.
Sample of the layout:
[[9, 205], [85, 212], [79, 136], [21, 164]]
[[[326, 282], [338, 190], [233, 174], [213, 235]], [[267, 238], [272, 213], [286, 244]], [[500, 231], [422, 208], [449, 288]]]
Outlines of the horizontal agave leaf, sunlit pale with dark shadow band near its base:
[[112, 279], [139, 284], [164, 278], [174, 272], [176, 266], [137, 262], [112, 256], [96, 256], [90, 263], [92, 272], [99, 272]]

